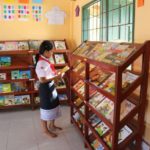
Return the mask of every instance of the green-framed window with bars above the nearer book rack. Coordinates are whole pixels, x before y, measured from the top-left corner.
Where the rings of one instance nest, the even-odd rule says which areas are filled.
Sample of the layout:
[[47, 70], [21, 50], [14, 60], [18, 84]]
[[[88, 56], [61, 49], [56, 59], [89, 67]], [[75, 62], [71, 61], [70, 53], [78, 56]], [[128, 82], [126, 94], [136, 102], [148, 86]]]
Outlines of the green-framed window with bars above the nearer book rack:
[[135, 0], [95, 0], [83, 7], [82, 39], [133, 41]]

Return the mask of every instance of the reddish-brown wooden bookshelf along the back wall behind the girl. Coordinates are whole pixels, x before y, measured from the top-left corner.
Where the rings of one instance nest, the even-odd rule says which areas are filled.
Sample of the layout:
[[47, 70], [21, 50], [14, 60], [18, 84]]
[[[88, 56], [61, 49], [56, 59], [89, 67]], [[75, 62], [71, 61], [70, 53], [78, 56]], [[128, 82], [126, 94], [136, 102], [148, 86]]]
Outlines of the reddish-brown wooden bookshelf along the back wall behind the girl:
[[[61, 69], [68, 62], [66, 41], [50, 41], [54, 44], [54, 62], [56, 62], [55, 54], [58, 56], [63, 54], [63, 63], [61, 63], [62, 58], [58, 58], [58, 63], [54, 64], [56, 69]], [[35, 74], [35, 55], [38, 53], [40, 43], [41, 40], [0, 42], [0, 109], [18, 107], [34, 109], [39, 105], [38, 82]], [[60, 85], [57, 88], [58, 93], [61, 95], [66, 94], [66, 86], [62, 85], [62, 81], [58, 81], [58, 85]], [[25, 101], [22, 101], [23, 98]], [[67, 101], [68, 98], [65, 97], [60, 102], [66, 104]]]

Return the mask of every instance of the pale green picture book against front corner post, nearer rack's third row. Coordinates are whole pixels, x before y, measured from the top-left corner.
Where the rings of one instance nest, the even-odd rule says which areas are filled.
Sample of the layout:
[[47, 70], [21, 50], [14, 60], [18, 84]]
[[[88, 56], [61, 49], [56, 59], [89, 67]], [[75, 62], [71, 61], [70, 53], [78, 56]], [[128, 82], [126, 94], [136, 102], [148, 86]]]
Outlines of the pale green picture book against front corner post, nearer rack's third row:
[[108, 98], [105, 98], [100, 104], [98, 104], [96, 110], [109, 121], [113, 121], [114, 103]]

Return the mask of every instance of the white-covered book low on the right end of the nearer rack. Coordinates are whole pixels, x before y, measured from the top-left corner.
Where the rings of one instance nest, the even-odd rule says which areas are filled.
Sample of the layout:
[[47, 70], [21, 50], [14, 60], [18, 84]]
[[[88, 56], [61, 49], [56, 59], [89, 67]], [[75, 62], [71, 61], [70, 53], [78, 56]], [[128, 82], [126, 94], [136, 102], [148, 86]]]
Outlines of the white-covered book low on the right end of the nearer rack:
[[131, 134], [132, 130], [127, 125], [125, 125], [119, 132], [118, 144], [125, 140]]

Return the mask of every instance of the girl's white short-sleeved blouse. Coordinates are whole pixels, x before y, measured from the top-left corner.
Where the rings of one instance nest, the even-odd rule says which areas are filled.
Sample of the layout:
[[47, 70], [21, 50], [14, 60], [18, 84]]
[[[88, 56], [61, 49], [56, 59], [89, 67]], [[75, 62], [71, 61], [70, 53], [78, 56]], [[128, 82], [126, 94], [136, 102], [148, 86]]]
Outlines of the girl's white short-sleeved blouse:
[[[44, 56], [41, 56], [41, 57], [48, 60]], [[45, 60], [40, 60], [37, 62], [35, 71], [36, 71], [38, 79], [40, 79], [41, 77], [45, 77], [46, 79], [50, 79], [50, 78], [53, 78], [55, 76], [55, 72], [52, 70], [50, 64]]]

